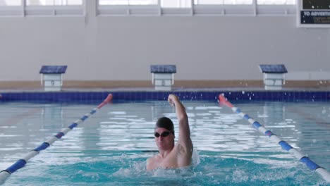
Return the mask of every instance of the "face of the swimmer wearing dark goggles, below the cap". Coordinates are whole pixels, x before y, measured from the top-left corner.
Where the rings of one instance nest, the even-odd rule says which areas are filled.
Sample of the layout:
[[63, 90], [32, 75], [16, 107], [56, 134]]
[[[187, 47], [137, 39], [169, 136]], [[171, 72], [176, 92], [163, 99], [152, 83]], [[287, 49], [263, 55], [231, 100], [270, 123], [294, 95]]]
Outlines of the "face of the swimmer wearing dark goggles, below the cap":
[[170, 130], [166, 128], [156, 128], [154, 130], [154, 135], [154, 141], [158, 149], [167, 150], [174, 147], [174, 135]]

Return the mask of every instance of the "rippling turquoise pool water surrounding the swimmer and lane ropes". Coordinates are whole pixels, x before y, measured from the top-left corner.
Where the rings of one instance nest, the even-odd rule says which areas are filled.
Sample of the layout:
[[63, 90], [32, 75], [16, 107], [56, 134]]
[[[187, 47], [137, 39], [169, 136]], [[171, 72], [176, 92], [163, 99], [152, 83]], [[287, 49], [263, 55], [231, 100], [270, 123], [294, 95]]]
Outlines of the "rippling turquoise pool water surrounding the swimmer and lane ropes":
[[[326, 185], [230, 109], [214, 101], [183, 103], [195, 147], [188, 168], [145, 171], [146, 159], [157, 153], [152, 136], [157, 118], [168, 116], [178, 128], [166, 101], [114, 102], [30, 159], [4, 185]], [[96, 105], [1, 103], [0, 169]], [[330, 170], [328, 103], [235, 105]]]

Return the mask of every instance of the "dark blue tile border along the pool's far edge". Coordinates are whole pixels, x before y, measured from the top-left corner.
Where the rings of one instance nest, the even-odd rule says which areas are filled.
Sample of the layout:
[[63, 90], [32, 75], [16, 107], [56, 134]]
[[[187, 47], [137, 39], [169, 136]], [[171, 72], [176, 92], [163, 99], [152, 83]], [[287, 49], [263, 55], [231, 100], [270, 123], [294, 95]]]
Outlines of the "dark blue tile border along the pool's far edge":
[[225, 94], [231, 101], [330, 101], [330, 92], [317, 91], [195, 91], [195, 92], [6, 92], [1, 93], [0, 101], [99, 101], [109, 93], [113, 94], [114, 100], [119, 101], [166, 101], [169, 94], [177, 94], [182, 100], [208, 100], [216, 101], [218, 95]]

